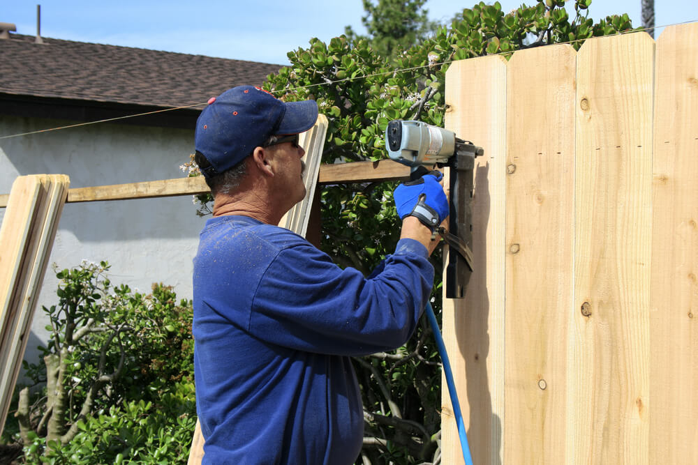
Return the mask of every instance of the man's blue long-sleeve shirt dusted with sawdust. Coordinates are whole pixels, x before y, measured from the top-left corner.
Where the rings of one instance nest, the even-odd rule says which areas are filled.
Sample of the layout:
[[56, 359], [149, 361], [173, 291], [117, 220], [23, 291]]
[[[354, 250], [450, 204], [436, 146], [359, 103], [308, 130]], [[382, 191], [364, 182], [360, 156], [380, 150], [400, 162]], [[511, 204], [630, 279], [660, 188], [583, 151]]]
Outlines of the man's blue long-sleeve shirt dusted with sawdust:
[[411, 239], [365, 278], [287, 229], [208, 220], [193, 277], [204, 463], [353, 463], [364, 420], [349, 356], [404, 344], [432, 283]]

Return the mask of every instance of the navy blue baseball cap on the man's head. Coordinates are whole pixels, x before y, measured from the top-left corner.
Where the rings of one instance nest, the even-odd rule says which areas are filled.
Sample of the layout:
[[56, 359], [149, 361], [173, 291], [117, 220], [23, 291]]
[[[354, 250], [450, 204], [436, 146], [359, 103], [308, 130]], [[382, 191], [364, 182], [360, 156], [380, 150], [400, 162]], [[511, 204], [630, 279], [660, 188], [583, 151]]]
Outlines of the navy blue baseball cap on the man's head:
[[270, 136], [304, 132], [317, 119], [315, 100], [282, 102], [259, 87], [233, 87], [211, 98], [196, 121], [196, 150], [211, 164], [201, 171], [207, 177], [222, 173]]

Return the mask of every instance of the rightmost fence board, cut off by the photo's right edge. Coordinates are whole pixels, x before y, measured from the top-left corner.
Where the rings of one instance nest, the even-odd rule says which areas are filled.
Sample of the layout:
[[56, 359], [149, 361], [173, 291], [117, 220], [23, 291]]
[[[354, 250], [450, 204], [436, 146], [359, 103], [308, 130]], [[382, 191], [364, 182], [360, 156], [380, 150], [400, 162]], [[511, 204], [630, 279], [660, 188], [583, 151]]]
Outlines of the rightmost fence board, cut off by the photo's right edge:
[[698, 464], [698, 23], [657, 41], [651, 464]]

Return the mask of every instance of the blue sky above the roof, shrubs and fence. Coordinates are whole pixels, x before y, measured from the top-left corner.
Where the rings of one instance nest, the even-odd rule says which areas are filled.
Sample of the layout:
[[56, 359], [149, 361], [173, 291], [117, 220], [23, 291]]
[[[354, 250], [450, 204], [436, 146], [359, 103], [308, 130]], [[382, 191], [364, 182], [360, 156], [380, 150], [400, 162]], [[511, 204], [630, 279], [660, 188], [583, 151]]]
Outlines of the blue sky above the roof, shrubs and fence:
[[[34, 35], [37, 3], [43, 37], [264, 63], [288, 64], [287, 52], [305, 47], [313, 37], [327, 41], [339, 36], [347, 24], [364, 31], [361, 0], [3, 0], [0, 22], [16, 24], [17, 33]], [[425, 6], [430, 17], [446, 22], [474, 3], [428, 0]], [[523, 2], [500, 3], [509, 11]], [[573, 15], [572, 1], [568, 3]], [[640, 4], [641, 0], [594, 0], [590, 15], [598, 20], [628, 13], [639, 26]], [[698, 0], [655, 1], [657, 26], [690, 20], [698, 20]]]

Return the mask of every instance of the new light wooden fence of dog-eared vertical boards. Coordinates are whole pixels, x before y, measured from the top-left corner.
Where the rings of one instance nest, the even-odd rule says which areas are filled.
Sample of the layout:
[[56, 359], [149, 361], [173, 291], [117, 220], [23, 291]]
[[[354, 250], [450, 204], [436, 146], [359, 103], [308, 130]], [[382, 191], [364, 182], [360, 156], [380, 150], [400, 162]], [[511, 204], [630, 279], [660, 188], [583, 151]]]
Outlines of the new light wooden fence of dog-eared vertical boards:
[[446, 100], [485, 149], [443, 319], [475, 464], [697, 464], [698, 23], [459, 61]]

